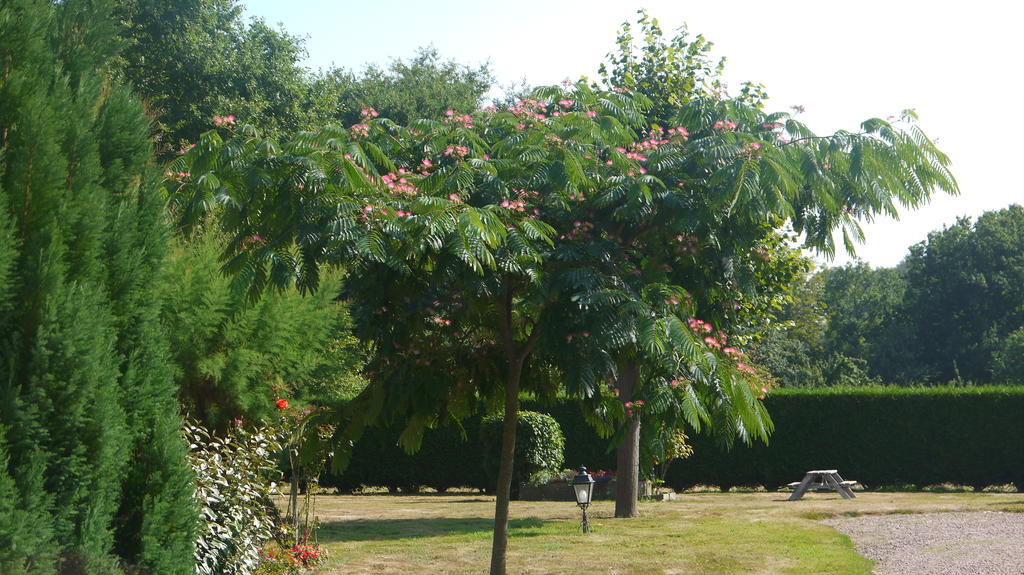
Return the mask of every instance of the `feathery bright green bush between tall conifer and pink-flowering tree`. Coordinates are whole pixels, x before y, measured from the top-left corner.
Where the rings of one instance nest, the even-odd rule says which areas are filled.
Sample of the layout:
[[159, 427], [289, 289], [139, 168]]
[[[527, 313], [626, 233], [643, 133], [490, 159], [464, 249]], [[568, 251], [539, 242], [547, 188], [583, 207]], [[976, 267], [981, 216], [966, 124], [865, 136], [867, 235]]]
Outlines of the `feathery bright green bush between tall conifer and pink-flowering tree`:
[[[328, 400], [335, 375], [352, 377], [359, 352], [339, 342], [348, 320], [334, 301], [338, 274], [309, 297], [293, 289], [250, 301], [221, 273], [215, 233], [176, 244], [161, 315], [179, 370], [179, 397], [194, 417], [218, 430], [234, 419], [267, 419], [274, 399]], [[317, 377], [315, 389], [307, 389]]]

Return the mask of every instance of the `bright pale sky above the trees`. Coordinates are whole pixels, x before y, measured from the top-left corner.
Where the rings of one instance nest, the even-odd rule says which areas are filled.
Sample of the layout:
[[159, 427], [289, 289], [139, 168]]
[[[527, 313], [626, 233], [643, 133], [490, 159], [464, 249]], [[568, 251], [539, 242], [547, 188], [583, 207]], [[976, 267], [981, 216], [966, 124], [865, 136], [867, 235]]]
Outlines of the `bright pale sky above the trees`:
[[[616, 32], [646, 8], [670, 35], [686, 26], [728, 58], [725, 78], [764, 84], [767, 110], [803, 105], [819, 134], [914, 109], [951, 161], [961, 194], [939, 194], [898, 221], [864, 225], [857, 256], [894, 266], [930, 231], [1024, 204], [1024, 34], [1006, 0], [594, 0], [429, 2], [242, 0], [247, 13], [305, 37], [310, 70], [353, 71], [433, 45], [445, 58], [487, 62], [499, 85], [596, 76]], [[1022, 247], [1024, 250], [1024, 247]], [[818, 258], [842, 265], [851, 258]]]

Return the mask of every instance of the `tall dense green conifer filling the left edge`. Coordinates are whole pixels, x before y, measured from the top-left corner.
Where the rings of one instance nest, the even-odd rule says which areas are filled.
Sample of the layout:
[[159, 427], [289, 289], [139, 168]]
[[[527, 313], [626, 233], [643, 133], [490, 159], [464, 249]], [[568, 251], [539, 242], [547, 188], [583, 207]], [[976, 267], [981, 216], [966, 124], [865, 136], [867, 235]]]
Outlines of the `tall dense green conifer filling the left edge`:
[[152, 298], [163, 204], [147, 121], [111, 81], [115, 32], [105, 2], [0, 7], [4, 573], [193, 569], [190, 477]]

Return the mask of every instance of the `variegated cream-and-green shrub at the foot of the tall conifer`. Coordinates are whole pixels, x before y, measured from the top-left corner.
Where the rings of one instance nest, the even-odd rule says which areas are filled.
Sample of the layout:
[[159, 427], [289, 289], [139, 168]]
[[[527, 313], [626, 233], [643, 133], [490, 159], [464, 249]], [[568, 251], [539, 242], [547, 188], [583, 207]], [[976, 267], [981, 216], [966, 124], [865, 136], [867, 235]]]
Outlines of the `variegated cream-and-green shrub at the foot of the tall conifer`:
[[279, 434], [267, 428], [232, 428], [217, 437], [185, 425], [188, 458], [196, 473], [202, 525], [196, 541], [198, 575], [250, 575], [273, 537], [278, 513], [271, 495], [279, 472]]

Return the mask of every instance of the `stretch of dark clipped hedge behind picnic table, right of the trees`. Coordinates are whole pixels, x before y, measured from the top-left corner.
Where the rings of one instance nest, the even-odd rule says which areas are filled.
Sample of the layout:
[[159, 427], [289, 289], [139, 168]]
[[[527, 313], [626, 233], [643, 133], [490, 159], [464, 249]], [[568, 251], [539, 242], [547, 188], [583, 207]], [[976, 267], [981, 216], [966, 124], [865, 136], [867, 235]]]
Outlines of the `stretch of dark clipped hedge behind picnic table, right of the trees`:
[[1024, 388], [859, 388], [769, 397], [768, 445], [716, 449], [695, 438], [667, 483], [774, 489], [807, 470], [838, 469], [868, 488], [1013, 483], [1024, 491]]

